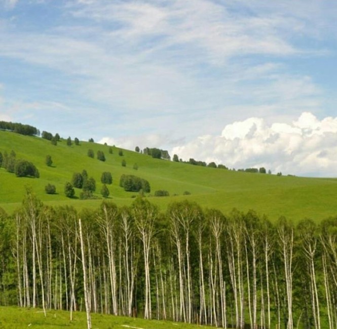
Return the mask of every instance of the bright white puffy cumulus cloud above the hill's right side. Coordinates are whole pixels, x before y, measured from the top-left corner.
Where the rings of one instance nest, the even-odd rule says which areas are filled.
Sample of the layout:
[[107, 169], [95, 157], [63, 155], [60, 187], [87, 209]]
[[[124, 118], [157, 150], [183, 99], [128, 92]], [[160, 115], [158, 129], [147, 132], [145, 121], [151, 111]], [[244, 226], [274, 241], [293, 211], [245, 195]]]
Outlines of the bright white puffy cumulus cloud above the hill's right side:
[[303, 112], [296, 120], [267, 124], [251, 117], [175, 146], [172, 154], [188, 160], [215, 161], [240, 169], [265, 167], [301, 176], [337, 175], [337, 117], [319, 120]]

